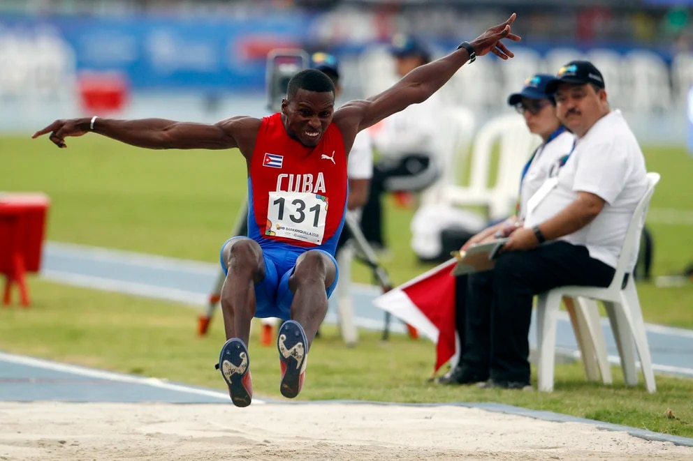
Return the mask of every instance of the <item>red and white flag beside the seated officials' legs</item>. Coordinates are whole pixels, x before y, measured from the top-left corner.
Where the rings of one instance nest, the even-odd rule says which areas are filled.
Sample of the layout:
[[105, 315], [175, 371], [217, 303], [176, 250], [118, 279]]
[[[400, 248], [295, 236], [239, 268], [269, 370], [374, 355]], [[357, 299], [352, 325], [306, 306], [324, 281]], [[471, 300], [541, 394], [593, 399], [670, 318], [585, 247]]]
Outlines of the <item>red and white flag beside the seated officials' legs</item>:
[[374, 305], [436, 343], [434, 373], [455, 355], [455, 259], [378, 296]]

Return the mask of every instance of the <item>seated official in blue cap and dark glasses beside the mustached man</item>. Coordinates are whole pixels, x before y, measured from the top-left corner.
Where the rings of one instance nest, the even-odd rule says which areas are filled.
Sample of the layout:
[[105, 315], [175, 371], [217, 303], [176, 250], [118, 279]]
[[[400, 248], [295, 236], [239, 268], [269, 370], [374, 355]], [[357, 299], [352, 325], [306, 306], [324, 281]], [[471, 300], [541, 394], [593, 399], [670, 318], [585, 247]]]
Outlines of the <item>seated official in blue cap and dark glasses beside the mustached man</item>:
[[[571, 151], [575, 137], [562, 125], [556, 116], [555, 101], [546, 94], [546, 85], [553, 80], [553, 75], [532, 75], [525, 81], [521, 91], [508, 97], [508, 104], [522, 114], [527, 128], [541, 136], [542, 142], [520, 174], [515, 214], [472, 236], [462, 250], [467, 250], [474, 243], [508, 236], [521, 226], [527, 214], [527, 201], [548, 179], [554, 165]], [[493, 273], [490, 271], [460, 275], [455, 279], [455, 330], [460, 339], [460, 361], [453, 364], [451, 372], [437, 382], [469, 384], [488, 379], [491, 322], [491, 298], [488, 293], [491, 287]], [[467, 305], [468, 294], [476, 299], [470, 305]], [[486, 301], [479, 296], [485, 296]]]

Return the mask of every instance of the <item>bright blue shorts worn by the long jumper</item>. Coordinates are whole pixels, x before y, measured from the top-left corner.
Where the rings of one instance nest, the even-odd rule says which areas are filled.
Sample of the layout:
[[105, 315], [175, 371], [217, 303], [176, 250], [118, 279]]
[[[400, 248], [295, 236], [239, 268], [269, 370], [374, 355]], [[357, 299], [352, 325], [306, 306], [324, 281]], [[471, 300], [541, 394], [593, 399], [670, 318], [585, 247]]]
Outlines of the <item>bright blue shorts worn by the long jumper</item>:
[[[247, 239], [247, 237], [232, 237], [221, 245], [219, 252], [219, 262], [224, 274], [228, 273], [226, 262], [224, 262], [224, 247], [234, 239]], [[265, 260], [265, 278], [255, 285], [256, 310], [255, 317], [279, 317], [282, 320], [291, 319], [291, 303], [293, 293], [289, 289], [289, 277], [293, 274], [296, 267], [296, 259], [306, 252], [304, 248], [296, 248], [290, 245], [282, 245], [279, 248], [263, 248], [263, 259]], [[337, 260], [333, 255], [324, 250], [319, 251], [328, 257], [335, 264], [335, 281], [332, 282], [325, 291], [327, 297], [332, 295], [340, 278], [340, 269]]]

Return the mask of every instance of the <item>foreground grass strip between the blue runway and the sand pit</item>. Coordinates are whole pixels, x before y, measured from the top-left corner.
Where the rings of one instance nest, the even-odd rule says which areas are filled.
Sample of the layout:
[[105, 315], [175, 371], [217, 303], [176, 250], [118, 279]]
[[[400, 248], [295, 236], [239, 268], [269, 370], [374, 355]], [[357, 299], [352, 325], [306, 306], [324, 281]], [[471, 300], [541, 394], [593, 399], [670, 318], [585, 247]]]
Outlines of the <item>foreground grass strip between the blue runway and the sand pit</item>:
[[[225, 389], [213, 366], [224, 341], [219, 317], [200, 338], [197, 311], [185, 305], [36, 278], [31, 290], [31, 308], [0, 310], [0, 349]], [[283, 400], [277, 349], [261, 347], [256, 333], [249, 345], [255, 393]], [[657, 393], [648, 394], [643, 384], [626, 387], [616, 368], [612, 386], [587, 383], [581, 364], [572, 363], [557, 365], [550, 394], [438, 386], [426, 379], [434, 354], [429, 341], [395, 334], [382, 342], [379, 332], [361, 331], [358, 346], [347, 348], [335, 327], [325, 326], [322, 333], [311, 350], [300, 400], [501, 402], [693, 437], [690, 379], [659, 375]], [[667, 409], [676, 418], [666, 417]]]

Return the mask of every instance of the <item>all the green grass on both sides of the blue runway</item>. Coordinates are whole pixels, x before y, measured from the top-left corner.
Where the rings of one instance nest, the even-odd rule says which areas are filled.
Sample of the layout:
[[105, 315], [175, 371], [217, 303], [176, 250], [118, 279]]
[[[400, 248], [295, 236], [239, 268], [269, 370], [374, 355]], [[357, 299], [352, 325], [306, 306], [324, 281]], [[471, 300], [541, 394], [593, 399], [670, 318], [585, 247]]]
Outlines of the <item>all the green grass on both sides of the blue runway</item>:
[[[184, 259], [215, 262], [245, 200], [245, 163], [236, 151], [145, 151], [88, 135], [57, 149], [48, 139], [0, 138], [0, 189], [39, 190], [52, 200], [48, 238]], [[648, 169], [662, 174], [652, 208], [693, 210], [693, 159], [683, 149], [646, 148]], [[384, 266], [395, 284], [430, 266], [409, 247], [411, 211], [386, 211], [391, 259]], [[649, 222], [655, 236], [655, 275], [693, 262], [690, 225]], [[370, 282], [357, 267], [354, 278]], [[223, 338], [219, 317], [210, 336], [194, 335], [196, 312], [179, 305], [119, 294], [62, 287], [32, 279], [29, 310], [0, 309], [0, 349], [71, 363], [166, 377], [223, 388], [212, 365]], [[693, 328], [693, 287], [639, 284], [646, 321]], [[362, 331], [345, 349], [326, 329], [313, 349], [305, 399], [451, 402], [493, 400], [693, 437], [693, 381], [658, 376], [658, 391], [587, 384], [579, 363], [556, 372], [556, 391], [483, 392], [425, 383], [434, 350], [428, 341], [395, 335], [383, 344]], [[277, 397], [273, 349], [251, 345], [257, 393]], [[173, 360], [176, 364], [172, 366]], [[670, 408], [678, 417], [666, 418]]]

